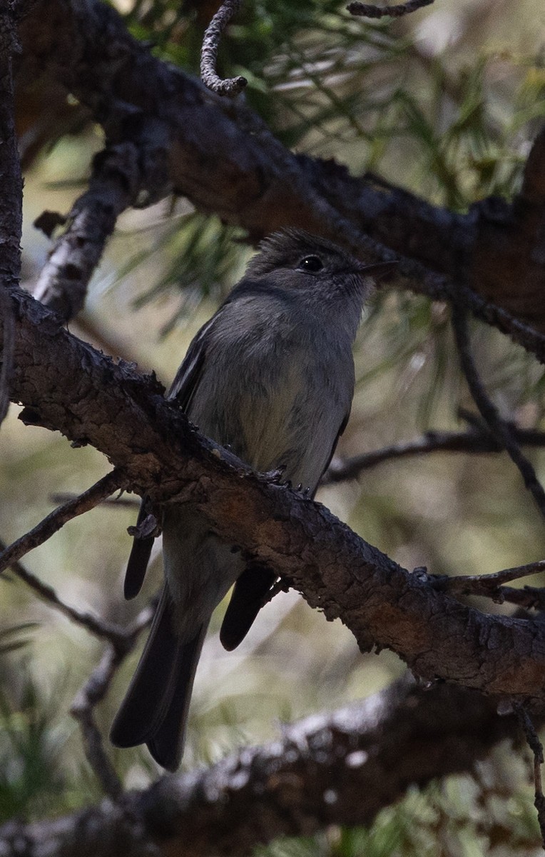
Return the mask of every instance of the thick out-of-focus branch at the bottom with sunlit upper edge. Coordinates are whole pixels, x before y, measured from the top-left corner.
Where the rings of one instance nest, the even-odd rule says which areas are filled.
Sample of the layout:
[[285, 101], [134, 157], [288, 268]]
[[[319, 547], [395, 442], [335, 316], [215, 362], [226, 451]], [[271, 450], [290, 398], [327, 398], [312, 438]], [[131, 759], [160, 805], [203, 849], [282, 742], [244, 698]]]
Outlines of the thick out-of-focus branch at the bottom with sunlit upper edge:
[[[328, 824], [370, 824], [412, 783], [471, 771], [514, 718], [491, 700], [402, 680], [364, 702], [282, 728], [274, 744], [247, 747], [208, 770], [164, 777], [121, 804], [67, 818], [0, 829], [7, 857], [191, 854], [242, 857], [278, 836], [309, 835]], [[426, 752], [422, 752], [425, 746]], [[213, 833], [211, 832], [213, 831]]]

